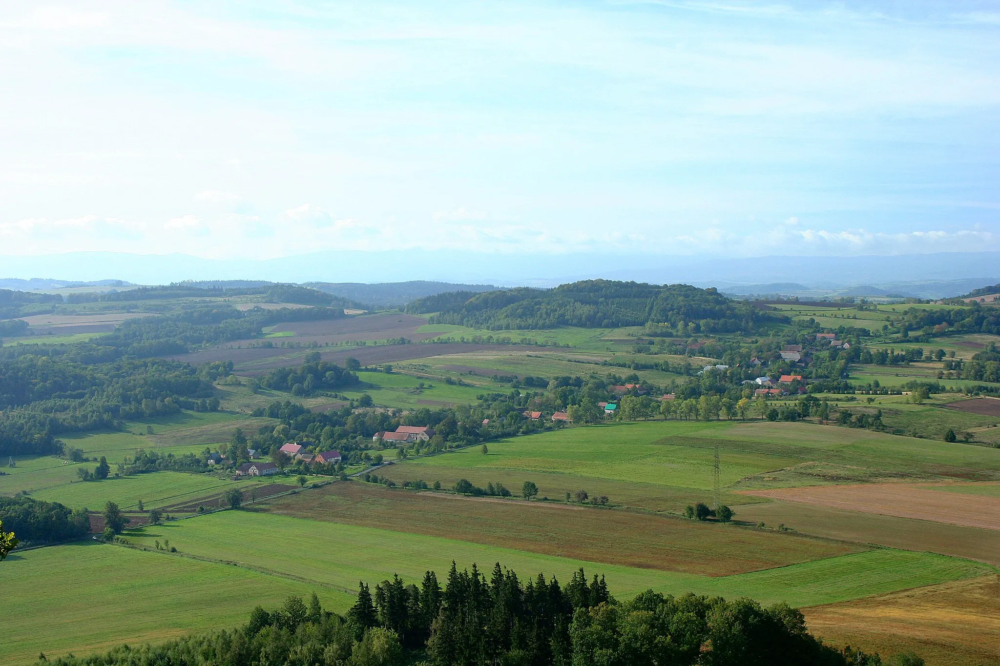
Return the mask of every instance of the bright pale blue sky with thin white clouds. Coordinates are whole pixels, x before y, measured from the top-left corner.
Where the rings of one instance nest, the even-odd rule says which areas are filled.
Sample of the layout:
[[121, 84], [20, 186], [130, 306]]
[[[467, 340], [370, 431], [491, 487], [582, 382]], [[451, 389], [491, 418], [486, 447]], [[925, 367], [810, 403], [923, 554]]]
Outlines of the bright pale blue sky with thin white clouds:
[[0, 256], [1000, 250], [995, 2], [0, 3]]

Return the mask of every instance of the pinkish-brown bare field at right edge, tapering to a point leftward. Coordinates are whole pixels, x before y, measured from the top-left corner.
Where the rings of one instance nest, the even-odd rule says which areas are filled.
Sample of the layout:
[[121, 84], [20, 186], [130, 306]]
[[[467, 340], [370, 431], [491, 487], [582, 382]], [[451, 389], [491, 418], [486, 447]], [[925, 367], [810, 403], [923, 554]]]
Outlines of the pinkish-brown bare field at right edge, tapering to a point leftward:
[[859, 483], [742, 492], [862, 513], [1000, 529], [1000, 497], [972, 499], [960, 493], [934, 490], [928, 484]]

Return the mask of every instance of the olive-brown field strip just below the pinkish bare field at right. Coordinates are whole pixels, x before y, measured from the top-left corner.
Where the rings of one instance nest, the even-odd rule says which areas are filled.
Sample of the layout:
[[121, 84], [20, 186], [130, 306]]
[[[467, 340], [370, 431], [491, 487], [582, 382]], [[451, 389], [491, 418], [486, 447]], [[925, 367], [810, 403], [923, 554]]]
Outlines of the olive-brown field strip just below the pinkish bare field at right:
[[861, 513], [816, 504], [773, 501], [733, 506], [736, 520], [784, 523], [803, 534], [965, 557], [1000, 566], [1000, 531]]

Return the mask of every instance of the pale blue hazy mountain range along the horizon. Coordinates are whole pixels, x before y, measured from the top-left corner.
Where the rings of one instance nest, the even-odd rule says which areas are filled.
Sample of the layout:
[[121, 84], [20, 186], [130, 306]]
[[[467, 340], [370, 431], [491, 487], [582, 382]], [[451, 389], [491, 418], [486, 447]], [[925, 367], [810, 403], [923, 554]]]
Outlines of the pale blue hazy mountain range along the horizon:
[[[604, 278], [716, 287], [739, 296], [939, 299], [997, 284], [1000, 282], [998, 267], [998, 252], [706, 259], [393, 250], [321, 252], [263, 261], [208, 260], [187, 255], [70, 253], [0, 257], [0, 277], [8, 279], [0, 280], [0, 287], [40, 290], [55, 289], [57, 285], [96, 287], [105, 284], [106, 287], [112, 282], [127, 286], [129, 283], [165, 285], [181, 281], [196, 281], [193, 284], [206, 286], [221, 281], [241, 281], [247, 285], [295, 283], [353, 301], [383, 303], [383, 307], [390, 307], [389, 304], [398, 304], [410, 296], [430, 296], [428, 290], [489, 291], [494, 285], [554, 287], [583, 279]], [[72, 280], [33, 278], [46, 275]], [[395, 284], [396, 287], [376, 288], [373, 284]], [[367, 298], [358, 298], [361, 294]]]

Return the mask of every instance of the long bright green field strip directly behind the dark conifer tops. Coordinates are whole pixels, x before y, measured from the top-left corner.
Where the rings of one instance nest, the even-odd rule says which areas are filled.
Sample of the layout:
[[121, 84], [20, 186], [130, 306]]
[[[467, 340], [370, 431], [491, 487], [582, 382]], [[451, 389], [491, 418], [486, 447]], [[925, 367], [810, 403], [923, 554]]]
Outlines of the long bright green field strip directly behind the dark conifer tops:
[[582, 566], [590, 573], [606, 575], [612, 593], [621, 597], [655, 589], [811, 606], [995, 571], [968, 560], [880, 549], [713, 578], [249, 511], [207, 514], [140, 528], [134, 534], [130, 538], [137, 543], [152, 545], [155, 538], [168, 538], [182, 553], [260, 570], [292, 571], [303, 579], [345, 590], [356, 589], [358, 580], [376, 583], [393, 572], [408, 581], [419, 580], [427, 569], [440, 575], [452, 560], [460, 566], [477, 563], [486, 568], [499, 561], [521, 576], [545, 572], [559, 580], [568, 579]]

